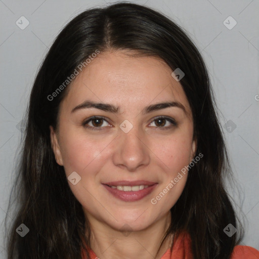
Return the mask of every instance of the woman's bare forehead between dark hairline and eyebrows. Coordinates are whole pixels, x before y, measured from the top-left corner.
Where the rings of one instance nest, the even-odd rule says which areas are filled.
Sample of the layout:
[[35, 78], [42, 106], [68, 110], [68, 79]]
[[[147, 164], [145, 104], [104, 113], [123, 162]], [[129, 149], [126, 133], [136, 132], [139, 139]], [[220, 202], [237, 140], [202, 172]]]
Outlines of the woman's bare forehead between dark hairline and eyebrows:
[[72, 81], [62, 106], [71, 110], [88, 99], [118, 105], [123, 110], [178, 101], [190, 112], [181, 83], [171, 76], [172, 70], [163, 60], [127, 53], [105, 52], [93, 58]]

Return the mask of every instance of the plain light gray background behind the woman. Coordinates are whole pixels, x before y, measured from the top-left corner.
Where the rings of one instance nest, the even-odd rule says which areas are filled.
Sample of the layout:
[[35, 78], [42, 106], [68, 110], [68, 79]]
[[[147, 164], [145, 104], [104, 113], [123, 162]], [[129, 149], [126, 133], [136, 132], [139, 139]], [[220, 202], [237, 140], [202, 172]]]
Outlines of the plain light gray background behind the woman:
[[[15, 175], [15, 153], [22, 135], [19, 122], [36, 71], [54, 38], [69, 20], [85, 9], [107, 3], [113, 1], [0, 0], [0, 258], [6, 257], [4, 218]], [[155, 8], [184, 27], [205, 59], [237, 181], [235, 187], [227, 182], [228, 190], [238, 204], [237, 212], [242, 209], [244, 213], [240, 219], [246, 232], [241, 244], [259, 249], [259, 1], [145, 0], [135, 3]], [[16, 25], [21, 16], [29, 21], [24, 30]], [[229, 16], [237, 22], [232, 29], [225, 26], [234, 25], [233, 20], [226, 20]], [[12, 221], [11, 215], [8, 219]]]

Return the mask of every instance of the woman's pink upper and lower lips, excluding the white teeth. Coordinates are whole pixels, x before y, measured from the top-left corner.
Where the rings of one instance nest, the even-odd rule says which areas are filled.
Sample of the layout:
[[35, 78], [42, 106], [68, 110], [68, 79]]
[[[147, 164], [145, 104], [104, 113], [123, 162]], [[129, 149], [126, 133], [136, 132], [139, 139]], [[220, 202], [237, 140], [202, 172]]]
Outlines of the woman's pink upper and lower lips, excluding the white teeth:
[[[111, 182], [111, 184], [115, 184], [116, 185], [112, 185], [112, 186], [118, 186], [118, 183], [122, 183], [122, 182]], [[134, 183], [134, 184], [133, 184]], [[138, 183], [138, 184], [136, 184]], [[144, 183], [144, 181], [137, 181], [137, 182], [125, 182], [123, 181], [123, 186], [136, 186], [136, 185], [142, 185], [139, 183]], [[147, 181], [146, 181], [147, 183]], [[149, 182], [151, 183], [151, 182]], [[128, 185], [128, 184], [132, 184], [132, 185]], [[110, 185], [110, 183], [109, 183]], [[152, 185], [150, 184], [146, 184], [149, 185], [147, 188], [144, 188], [143, 190], [139, 190], [139, 191], [129, 191], [129, 192], [125, 192], [125, 191], [119, 191], [117, 189], [113, 189], [110, 186], [108, 186], [107, 184], [103, 184], [103, 186], [106, 188], [106, 190], [108, 190], [109, 193], [111, 193], [114, 197], [122, 200], [122, 201], [138, 201], [143, 199], [144, 197], [146, 197], [148, 194], [150, 194], [154, 188], [156, 188], [156, 186], [158, 185], [158, 183], [153, 183]]]

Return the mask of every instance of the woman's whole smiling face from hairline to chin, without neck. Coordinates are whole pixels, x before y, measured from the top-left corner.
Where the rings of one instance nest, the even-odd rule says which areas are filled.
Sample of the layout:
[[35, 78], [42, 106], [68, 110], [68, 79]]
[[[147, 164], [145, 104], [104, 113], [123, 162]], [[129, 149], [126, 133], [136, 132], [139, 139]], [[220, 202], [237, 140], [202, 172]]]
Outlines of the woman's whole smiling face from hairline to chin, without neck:
[[106, 52], [71, 83], [51, 139], [92, 222], [142, 230], [165, 217], [183, 192], [188, 171], [181, 169], [196, 143], [190, 105], [171, 72], [158, 58]]

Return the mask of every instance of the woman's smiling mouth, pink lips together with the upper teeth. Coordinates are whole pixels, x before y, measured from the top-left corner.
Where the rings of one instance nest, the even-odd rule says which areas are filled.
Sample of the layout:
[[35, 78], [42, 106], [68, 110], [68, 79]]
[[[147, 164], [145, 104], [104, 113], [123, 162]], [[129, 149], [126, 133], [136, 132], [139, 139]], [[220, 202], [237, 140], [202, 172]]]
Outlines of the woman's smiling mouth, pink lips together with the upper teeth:
[[158, 185], [148, 181], [119, 181], [104, 183], [103, 186], [114, 197], [123, 201], [138, 201], [150, 194]]

